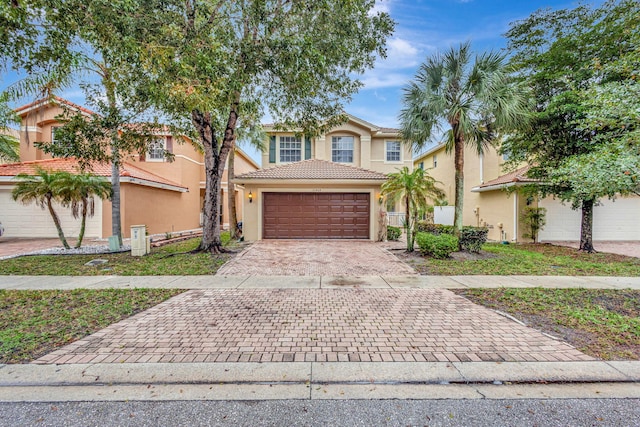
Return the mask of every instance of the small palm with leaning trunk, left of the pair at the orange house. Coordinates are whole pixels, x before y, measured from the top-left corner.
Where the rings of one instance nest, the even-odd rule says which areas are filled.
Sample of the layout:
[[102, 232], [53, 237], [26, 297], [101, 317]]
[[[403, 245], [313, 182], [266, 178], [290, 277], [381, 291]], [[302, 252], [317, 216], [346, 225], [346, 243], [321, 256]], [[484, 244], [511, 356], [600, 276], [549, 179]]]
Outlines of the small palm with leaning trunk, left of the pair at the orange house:
[[65, 249], [70, 249], [69, 243], [67, 243], [67, 239], [65, 239], [62, 227], [60, 226], [60, 219], [53, 209], [53, 202], [61, 200], [56, 181], [59, 180], [64, 173], [65, 172], [48, 172], [38, 168], [36, 169], [35, 175], [28, 175], [26, 173], [18, 174], [16, 175], [16, 179], [19, 182], [11, 192], [11, 197], [13, 197], [13, 200], [25, 205], [35, 202], [36, 205], [42, 209], [49, 209], [53, 223], [58, 230], [60, 241]]

